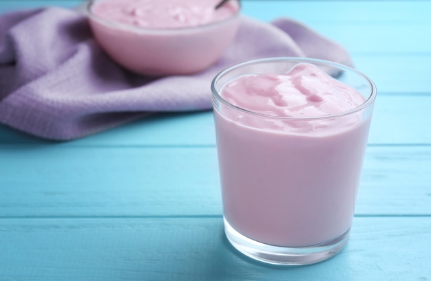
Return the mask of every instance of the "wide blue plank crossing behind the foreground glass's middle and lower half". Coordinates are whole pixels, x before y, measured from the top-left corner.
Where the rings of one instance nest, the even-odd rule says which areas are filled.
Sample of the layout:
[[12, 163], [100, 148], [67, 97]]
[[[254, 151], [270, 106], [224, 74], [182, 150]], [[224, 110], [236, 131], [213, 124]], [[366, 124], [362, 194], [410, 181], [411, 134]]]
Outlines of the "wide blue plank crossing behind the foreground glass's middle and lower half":
[[[10, 146], [0, 217], [220, 215], [214, 147]], [[370, 146], [357, 216], [430, 215], [431, 146]]]

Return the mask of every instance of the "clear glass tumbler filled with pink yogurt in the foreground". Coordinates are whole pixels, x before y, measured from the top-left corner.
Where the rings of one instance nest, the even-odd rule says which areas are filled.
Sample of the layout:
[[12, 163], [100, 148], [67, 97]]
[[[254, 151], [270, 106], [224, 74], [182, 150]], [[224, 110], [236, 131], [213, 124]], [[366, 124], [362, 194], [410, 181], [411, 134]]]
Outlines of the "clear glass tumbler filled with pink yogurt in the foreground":
[[375, 84], [325, 60], [266, 58], [211, 85], [224, 232], [246, 256], [309, 265], [344, 248]]

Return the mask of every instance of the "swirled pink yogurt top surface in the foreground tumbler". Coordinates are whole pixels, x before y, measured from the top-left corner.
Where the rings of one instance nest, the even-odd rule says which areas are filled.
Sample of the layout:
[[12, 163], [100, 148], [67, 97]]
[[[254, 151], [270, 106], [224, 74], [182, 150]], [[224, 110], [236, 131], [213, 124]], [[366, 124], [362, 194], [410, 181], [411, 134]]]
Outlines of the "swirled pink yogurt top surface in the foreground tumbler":
[[323, 117], [365, 102], [355, 89], [315, 65], [301, 63], [286, 74], [251, 74], [229, 82], [222, 97], [256, 113], [280, 117]]

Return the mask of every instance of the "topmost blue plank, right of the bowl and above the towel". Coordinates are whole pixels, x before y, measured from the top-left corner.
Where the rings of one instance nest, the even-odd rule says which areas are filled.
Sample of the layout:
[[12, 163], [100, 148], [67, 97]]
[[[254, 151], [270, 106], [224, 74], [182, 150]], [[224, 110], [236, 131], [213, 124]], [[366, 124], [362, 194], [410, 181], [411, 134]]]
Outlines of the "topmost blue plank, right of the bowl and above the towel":
[[[430, 1], [242, 0], [242, 12], [264, 21], [288, 16], [308, 23], [431, 23]], [[324, 11], [324, 12], [322, 12]]]

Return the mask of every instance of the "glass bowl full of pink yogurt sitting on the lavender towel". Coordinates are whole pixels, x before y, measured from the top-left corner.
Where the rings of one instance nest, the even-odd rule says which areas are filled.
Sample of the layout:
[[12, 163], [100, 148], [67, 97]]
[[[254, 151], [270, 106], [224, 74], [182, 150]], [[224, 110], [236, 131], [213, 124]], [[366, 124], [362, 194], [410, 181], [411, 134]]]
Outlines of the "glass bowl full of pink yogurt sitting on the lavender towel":
[[90, 0], [96, 41], [116, 63], [148, 76], [195, 74], [216, 63], [240, 24], [240, 2]]

